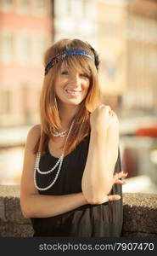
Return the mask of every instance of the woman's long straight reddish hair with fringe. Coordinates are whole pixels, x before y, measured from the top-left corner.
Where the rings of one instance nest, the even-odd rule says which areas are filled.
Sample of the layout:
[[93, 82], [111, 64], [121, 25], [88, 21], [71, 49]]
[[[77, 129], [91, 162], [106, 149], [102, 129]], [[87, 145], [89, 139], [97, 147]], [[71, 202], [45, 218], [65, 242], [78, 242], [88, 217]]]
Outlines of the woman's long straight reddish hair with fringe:
[[87, 73], [90, 79], [90, 86], [87, 91], [86, 98], [80, 103], [79, 111], [75, 116], [75, 123], [70, 137], [66, 143], [64, 154], [69, 154], [76, 145], [89, 134], [90, 131], [90, 113], [98, 107], [100, 102], [100, 90], [98, 86], [98, 55], [90, 44], [87, 44], [80, 39], [62, 39], [59, 42], [53, 44], [44, 56], [44, 65], [48, 65], [48, 62], [53, 59], [55, 55], [58, 55], [66, 49], [85, 49], [95, 59], [95, 63], [92, 59], [81, 56], [72, 55], [66, 56], [63, 61], [59, 61], [52, 68], [49, 69], [45, 75], [42, 85], [42, 92], [40, 96], [40, 119], [41, 119], [41, 136], [35, 145], [34, 153], [40, 151], [41, 154], [45, 154], [45, 149], [48, 146], [50, 138], [53, 139], [52, 129], [59, 130], [61, 128], [61, 120], [59, 117], [59, 109], [56, 101], [56, 95], [54, 90], [54, 81], [56, 74], [59, 73], [61, 65], [64, 64], [71, 70], [77, 70], [77, 72]]

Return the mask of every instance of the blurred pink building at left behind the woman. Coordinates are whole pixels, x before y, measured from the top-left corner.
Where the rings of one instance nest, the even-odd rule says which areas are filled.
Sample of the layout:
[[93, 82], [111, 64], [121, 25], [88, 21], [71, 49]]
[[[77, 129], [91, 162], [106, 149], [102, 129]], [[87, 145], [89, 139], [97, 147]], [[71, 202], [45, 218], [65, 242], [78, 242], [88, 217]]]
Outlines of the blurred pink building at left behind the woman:
[[0, 1], [1, 127], [36, 122], [52, 27], [51, 1]]

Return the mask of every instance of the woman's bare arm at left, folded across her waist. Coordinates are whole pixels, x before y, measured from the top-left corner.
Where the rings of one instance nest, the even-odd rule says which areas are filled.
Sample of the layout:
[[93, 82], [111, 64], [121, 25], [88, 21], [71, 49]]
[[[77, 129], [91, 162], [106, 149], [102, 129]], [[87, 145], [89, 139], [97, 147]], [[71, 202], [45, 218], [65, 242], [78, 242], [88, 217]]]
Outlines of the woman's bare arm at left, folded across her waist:
[[20, 182], [20, 207], [25, 218], [53, 217], [88, 204], [82, 193], [39, 195], [33, 182], [36, 161], [33, 148], [39, 137], [40, 125], [35, 125], [29, 131], [25, 144], [24, 165]]

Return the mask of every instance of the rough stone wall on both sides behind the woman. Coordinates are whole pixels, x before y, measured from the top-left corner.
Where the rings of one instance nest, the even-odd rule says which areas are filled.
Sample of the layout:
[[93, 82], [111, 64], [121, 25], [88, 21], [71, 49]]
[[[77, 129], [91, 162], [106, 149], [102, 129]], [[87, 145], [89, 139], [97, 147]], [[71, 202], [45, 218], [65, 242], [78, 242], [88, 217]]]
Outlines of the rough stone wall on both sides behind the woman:
[[[157, 195], [125, 193], [122, 236], [157, 236]], [[30, 219], [20, 211], [20, 186], [0, 185], [0, 236], [32, 236]]]

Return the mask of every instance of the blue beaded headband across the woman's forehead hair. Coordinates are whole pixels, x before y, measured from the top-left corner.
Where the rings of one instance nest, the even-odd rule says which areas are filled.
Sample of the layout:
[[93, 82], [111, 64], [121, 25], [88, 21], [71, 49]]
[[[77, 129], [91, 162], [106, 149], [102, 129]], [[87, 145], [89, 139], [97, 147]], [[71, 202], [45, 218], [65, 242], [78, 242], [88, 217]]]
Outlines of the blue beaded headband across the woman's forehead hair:
[[84, 49], [67, 49], [67, 50], [64, 50], [62, 53], [53, 57], [53, 59], [48, 62], [48, 65], [45, 67], [45, 75], [48, 73], [48, 70], [51, 67], [53, 67], [57, 62], [63, 61], [66, 56], [72, 56], [72, 55], [86, 56], [94, 61], [93, 55], [90, 55]]

